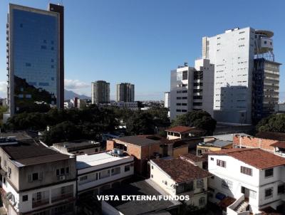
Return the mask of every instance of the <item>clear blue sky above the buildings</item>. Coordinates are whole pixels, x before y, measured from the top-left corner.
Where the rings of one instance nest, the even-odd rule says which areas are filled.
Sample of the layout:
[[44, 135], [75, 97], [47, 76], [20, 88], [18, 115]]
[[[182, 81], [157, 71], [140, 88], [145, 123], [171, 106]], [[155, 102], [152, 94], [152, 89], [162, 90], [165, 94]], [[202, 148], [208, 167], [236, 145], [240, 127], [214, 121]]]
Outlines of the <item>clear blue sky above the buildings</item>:
[[[135, 84], [136, 100], [158, 100], [170, 89], [170, 70], [201, 56], [202, 36], [229, 28], [274, 31], [275, 60], [285, 63], [285, 1], [1, 0], [0, 97], [6, 95], [6, 13], [9, 2], [39, 9], [65, 6], [66, 88], [90, 96], [94, 80]], [[280, 99], [285, 100], [281, 66]]]

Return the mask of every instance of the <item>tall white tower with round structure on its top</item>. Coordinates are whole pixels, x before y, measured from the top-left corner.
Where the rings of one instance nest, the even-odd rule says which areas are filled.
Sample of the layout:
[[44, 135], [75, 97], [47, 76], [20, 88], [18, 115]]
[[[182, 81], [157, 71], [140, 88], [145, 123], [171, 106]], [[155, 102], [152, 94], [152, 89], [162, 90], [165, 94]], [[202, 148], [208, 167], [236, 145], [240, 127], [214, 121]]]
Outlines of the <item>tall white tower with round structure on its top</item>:
[[214, 63], [214, 117], [252, 123], [279, 97], [279, 63], [274, 62], [271, 31], [234, 28], [202, 38], [202, 56]]

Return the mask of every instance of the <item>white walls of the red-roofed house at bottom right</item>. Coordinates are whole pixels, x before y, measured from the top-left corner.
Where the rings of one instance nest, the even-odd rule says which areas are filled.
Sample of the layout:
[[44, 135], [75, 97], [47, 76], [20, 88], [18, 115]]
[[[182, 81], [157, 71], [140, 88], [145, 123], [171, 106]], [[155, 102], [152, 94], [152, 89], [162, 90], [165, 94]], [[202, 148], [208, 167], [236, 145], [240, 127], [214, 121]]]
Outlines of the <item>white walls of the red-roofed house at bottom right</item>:
[[[217, 159], [225, 161], [226, 168], [217, 166]], [[252, 176], [242, 174], [240, 172], [241, 166], [251, 168]], [[210, 201], [217, 202], [217, 199], [215, 199], [215, 194], [217, 194], [217, 192], [238, 199], [242, 194], [241, 187], [256, 192], [255, 198], [249, 195], [249, 204], [254, 209], [260, 209], [265, 207], [265, 204], [284, 198], [284, 194], [277, 194], [278, 185], [284, 183], [282, 175], [282, 173], [284, 173], [284, 167], [274, 167], [274, 177], [265, 178], [265, 170], [254, 168], [227, 155], [209, 155], [208, 168], [209, 172], [214, 174], [214, 179], [209, 179], [209, 187], [215, 189], [214, 196], [209, 199]], [[229, 189], [222, 187], [223, 179], [232, 182], [232, 187]], [[265, 189], [269, 187], [274, 187], [274, 195], [269, 199], [265, 199]], [[276, 208], [277, 205], [278, 203], [270, 204], [270, 206], [273, 206], [274, 208]]]

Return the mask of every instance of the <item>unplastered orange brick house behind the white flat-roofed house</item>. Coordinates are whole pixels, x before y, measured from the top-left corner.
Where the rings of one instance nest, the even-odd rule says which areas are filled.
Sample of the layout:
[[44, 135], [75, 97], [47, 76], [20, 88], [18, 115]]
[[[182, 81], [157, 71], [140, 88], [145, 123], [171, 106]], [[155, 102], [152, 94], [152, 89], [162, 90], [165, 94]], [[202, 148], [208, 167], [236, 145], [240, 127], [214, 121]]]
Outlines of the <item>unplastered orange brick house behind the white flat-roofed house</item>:
[[147, 162], [159, 157], [160, 141], [147, 137], [128, 136], [107, 140], [106, 150], [119, 149], [135, 157], [135, 173], [147, 175]]

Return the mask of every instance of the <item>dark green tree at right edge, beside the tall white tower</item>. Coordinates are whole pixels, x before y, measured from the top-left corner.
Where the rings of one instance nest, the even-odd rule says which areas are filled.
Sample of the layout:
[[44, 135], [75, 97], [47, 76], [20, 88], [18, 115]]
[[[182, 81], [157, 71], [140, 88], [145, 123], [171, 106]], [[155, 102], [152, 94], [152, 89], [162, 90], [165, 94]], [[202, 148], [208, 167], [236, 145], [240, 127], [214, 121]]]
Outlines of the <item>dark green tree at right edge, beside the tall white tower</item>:
[[259, 121], [259, 132], [285, 132], [285, 114], [272, 114]]

